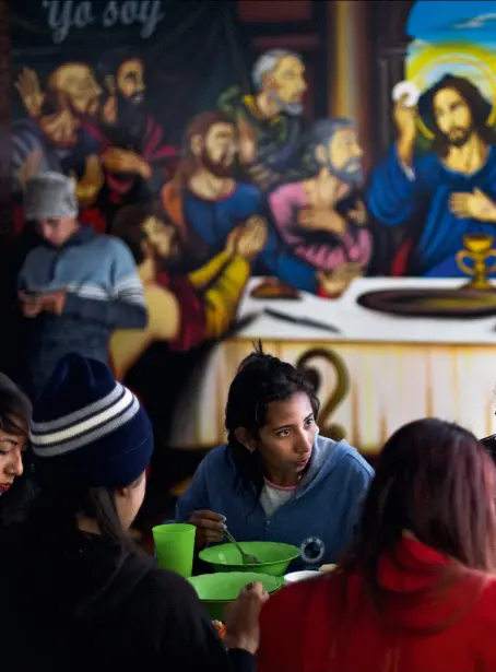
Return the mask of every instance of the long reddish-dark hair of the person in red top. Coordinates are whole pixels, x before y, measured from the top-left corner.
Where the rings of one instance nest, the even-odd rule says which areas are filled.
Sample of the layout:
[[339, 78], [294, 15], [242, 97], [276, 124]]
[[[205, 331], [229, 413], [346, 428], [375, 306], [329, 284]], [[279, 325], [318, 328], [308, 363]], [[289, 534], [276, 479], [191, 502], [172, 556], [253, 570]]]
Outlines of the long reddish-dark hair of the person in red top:
[[[452, 558], [441, 566], [438, 587], [458, 580], [468, 569], [494, 570], [494, 485], [493, 462], [467, 429], [433, 417], [403, 426], [379, 456], [342, 570], [363, 574], [367, 591], [380, 605], [392, 591], [379, 581], [379, 561], [388, 552], [394, 556], [405, 531]], [[423, 593], [425, 589], [418, 590], [415, 598]]]

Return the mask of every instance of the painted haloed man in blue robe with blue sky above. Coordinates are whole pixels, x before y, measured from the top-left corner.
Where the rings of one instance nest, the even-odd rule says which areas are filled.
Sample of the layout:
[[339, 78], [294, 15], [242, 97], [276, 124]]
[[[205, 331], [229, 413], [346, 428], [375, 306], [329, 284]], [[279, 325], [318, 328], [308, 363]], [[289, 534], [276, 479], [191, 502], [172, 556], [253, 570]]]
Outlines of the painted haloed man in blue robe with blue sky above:
[[[481, 4], [489, 14], [479, 17]], [[373, 172], [368, 203], [385, 225], [422, 222], [412, 236], [421, 275], [463, 275], [460, 234], [494, 234], [496, 71], [482, 31], [492, 4], [418, 2], [410, 17], [410, 87], [394, 96], [398, 143]]]

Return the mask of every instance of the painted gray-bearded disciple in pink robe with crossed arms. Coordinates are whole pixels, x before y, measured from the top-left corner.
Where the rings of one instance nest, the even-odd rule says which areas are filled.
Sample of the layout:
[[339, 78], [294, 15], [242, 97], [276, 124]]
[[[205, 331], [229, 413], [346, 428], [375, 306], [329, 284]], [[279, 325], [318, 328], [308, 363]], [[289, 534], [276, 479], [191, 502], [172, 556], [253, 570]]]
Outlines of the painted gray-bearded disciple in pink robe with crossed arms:
[[284, 241], [296, 257], [333, 272], [336, 293], [363, 274], [371, 254], [367, 213], [358, 193], [362, 156], [352, 120], [317, 121], [308, 134], [304, 162], [310, 177], [269, 196]]

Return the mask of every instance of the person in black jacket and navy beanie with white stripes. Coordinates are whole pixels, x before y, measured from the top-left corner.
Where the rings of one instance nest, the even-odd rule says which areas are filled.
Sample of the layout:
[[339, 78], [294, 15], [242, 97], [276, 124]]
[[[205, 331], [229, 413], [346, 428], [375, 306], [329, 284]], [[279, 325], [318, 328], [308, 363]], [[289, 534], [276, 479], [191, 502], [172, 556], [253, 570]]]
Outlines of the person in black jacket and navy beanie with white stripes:
[[227, 651], [192, 587], [130, 541], [153, 435], [105, 364], [62, 357], [35, 403], [31, 444], [39, 493], [0, 535], [5, 670], [255, 670], [261, 586], [234, 603]]

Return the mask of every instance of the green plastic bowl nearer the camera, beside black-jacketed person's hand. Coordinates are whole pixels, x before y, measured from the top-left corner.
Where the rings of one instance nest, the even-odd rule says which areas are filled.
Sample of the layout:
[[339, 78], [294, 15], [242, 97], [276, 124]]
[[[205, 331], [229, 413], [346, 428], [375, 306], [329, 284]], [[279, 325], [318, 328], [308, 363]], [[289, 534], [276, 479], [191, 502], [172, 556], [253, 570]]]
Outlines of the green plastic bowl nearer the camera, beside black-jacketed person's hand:
[[268, 592], [275, 592], [284, 579], [264, 574], [232, 571], [229, 574], [202, 574], [188, 579], [214, 621], [224, 620], [224, 610], [236, 600], [241, 590], [252, 581], [261, 581]]

